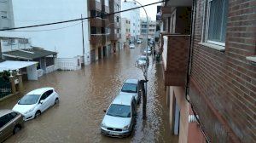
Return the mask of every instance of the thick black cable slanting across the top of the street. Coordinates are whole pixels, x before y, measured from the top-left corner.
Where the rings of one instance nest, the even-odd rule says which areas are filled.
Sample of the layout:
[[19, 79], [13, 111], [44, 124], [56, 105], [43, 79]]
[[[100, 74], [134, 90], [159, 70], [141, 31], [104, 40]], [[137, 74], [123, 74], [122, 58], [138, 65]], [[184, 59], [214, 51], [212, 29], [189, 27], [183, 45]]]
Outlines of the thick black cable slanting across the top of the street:
[[[123, 12], [130, 11], [130, 10], [133, 10], [133, 9], [140, 9], [140, 8], [147, 7], [147, 6], [150, 6], [150, 5], [154, 5], [154, 4], [157, 4], [157, 3], [163, 3], [163, 2], [166, 2], [166, 1], [167, 0], [163, 0], [163, 1], [160, 1], [160, 2], [156, 2], [156, 3], [149, 3], [149, 4], [146, 4], [146, 5], [143, 5], [143, 6], [135, 7], [135, 8], [132, 8], [132, 9], [125, 9], [125, 10], [121, 10], [121, 11], [117, 11], [117, 12], [113, 12], [113, 13], [105, 14], [105, 15], [108, 16], [108, 15], [111, 15], [111, 14], [119, 14], [119, 13], [123, 13]], [[61, 23], [68, 23], [68, 22], [78, 21], [78, 20], [94, 19], [96, 17], [100, 17], [100, 16], [90, 16], [90, 17], [79, 18], [79, 19], [74, 19], [74, 20], [63, 20], [63, 21], [59, 21], [59, 22], [52, 22], [52, 23], [46, 23], [46, 24], [34, 25], [34, 26], [20, 26], [20, 27], [14, 27], [14, 28], [6, 28], [6, 29], [0, 29], [0, 31], [10, 31], [10, 30], [15, 30], [15, 29], [25, 29], [25, 28], [32, 28], [32, 27], [38, 27], [38, 26], [51, 26], [51, 25], [57, 25], [57, 24], [61, 24]]]

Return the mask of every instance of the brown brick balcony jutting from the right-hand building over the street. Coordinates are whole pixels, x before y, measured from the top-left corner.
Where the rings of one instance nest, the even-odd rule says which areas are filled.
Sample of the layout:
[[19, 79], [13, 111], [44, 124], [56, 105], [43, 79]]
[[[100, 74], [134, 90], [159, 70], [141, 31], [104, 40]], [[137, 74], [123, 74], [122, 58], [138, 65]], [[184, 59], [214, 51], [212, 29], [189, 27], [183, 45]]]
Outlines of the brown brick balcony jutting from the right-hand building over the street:
[[163, 35], [162, 59], [166, 86], [185, 86], [189, 60], [189, 35]]

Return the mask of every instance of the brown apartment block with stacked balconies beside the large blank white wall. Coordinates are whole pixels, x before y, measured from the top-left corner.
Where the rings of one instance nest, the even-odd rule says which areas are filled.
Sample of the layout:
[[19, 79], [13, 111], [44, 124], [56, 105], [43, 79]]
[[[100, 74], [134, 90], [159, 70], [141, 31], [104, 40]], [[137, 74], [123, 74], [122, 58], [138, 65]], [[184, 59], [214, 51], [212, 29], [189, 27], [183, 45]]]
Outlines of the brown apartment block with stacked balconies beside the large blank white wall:
[[107, 17], [110, 3], [108, 0], [90, 0], [88, 3], [88, 16], [92, 17], [89, 22], [90, 61], [94, 62], [106, 57], [112, 50], [107, 32], [111, 23]]

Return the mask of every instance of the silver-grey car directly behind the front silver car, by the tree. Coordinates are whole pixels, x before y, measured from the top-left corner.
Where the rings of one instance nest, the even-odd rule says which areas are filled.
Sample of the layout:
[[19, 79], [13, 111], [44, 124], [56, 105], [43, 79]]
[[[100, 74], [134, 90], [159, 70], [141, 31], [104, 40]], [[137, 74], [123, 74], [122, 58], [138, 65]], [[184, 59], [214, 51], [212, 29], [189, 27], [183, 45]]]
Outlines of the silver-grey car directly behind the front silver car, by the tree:
[[123, 84], [122, 89], [120, 91], [120, 94], [127, 94], [127, 95], [134, 96], [137, 104], [141, 100], [141, 96], [139, 94], [140, 90], [139, 90], [138, 82], [139, 81], [137, 79], [127, 79], [125, 80], [125, 83]]

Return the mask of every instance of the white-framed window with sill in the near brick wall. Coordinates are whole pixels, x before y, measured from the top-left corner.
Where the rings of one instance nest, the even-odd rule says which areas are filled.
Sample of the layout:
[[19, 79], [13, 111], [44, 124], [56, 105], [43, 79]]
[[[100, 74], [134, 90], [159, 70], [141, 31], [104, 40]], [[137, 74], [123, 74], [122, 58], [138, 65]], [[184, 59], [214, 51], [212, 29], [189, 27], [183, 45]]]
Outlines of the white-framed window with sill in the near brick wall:
[[224, 46], [229, 1], [209, 0], [207, 7], [206, 41]]

